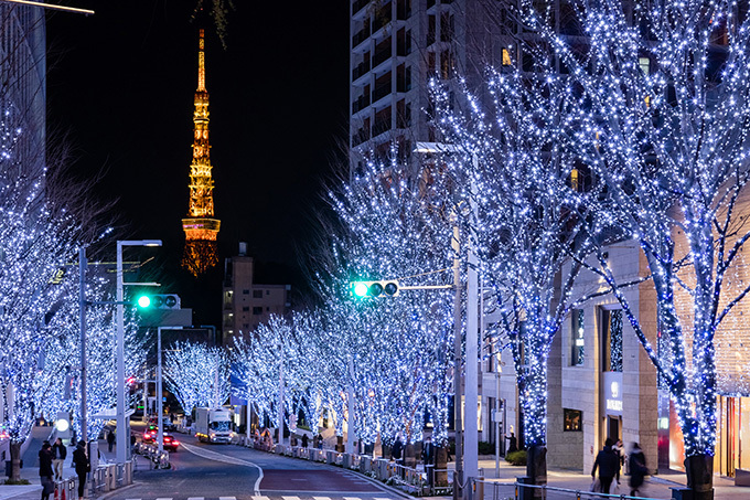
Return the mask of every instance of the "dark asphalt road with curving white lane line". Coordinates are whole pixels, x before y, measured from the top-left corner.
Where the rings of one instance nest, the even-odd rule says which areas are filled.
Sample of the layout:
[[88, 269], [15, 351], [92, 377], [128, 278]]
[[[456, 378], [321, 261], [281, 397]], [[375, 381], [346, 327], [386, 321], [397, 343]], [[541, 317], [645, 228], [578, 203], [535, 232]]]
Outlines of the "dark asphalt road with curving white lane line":
[[356, 474], [235, 445], [210, 445], [175, 434], [172, 469], [150, 470], [138, 457], [133, 485], [108, 500], [398, 500]]

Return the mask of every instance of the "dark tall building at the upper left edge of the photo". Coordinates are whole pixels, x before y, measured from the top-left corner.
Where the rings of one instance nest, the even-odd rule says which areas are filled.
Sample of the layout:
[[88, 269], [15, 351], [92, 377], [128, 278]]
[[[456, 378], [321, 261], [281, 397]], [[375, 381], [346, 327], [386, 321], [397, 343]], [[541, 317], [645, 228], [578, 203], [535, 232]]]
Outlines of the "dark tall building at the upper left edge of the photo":
[[46, 155], [46, 24], [40, 8], [0, 2], [0, 108], [2, 127], [18, 134], [14, 171], [39, 179]]

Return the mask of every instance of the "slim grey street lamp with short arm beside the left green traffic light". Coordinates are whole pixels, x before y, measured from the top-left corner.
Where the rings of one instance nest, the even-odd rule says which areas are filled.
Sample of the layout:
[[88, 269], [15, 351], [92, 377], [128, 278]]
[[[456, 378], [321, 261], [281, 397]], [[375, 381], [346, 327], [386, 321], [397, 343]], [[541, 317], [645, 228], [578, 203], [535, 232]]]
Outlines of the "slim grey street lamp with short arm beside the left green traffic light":
[[[122, 287], [133, 285], [122, 283], [122, 247], [124, 246], [161, 246], [161, 240], [125, 240], [117, 242], [117, 347], [115, 358], [117, 360], [117, 464], [125, 464], [127, 450], [130, 446], [129, 429], [126, 429], [125, 421], [125, 318], [122, 309]], [[139, 284], [140, 285], [140, 284]]]

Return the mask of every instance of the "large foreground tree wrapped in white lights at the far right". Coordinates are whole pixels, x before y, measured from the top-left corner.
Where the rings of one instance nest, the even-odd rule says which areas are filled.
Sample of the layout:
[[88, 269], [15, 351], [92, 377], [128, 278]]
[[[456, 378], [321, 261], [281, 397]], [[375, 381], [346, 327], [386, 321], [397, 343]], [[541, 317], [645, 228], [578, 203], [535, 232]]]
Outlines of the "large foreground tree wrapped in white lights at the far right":
[[[710, 494], [716, 445], [715, 338], [750, 286], [729, 291], [750, 234], [750, 25], [731, 1], [575, 3], [587, 43], [574, 46], [526, 7], [569, 82], [566, 147], [607, 183], [592, 233], [639, 242], [657, 294], [660, 358], [602, 253], [590, 266], [614, 289], [667, 382], [684, 436], [688, 486]], [[683, 291], [684, 290], [684, 291]], [[687, 315], [679, 316], [679, 297]]]

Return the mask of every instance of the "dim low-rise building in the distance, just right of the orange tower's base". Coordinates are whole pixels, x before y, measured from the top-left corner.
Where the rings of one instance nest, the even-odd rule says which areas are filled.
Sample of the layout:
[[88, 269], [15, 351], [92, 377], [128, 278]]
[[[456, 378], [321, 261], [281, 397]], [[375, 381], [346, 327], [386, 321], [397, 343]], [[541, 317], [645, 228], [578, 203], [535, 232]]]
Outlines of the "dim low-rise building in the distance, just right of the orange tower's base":
[[291, 285], [260, 285], [254, 283], [254, 262], [247, 245], [239, 244], [239, 255], [224, 264], [224, 298], [222, 306], [222, 339], [232, 344], [235, 336], [247, 337], [271, 315], [289, 312]]

